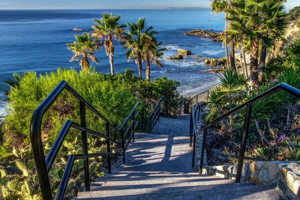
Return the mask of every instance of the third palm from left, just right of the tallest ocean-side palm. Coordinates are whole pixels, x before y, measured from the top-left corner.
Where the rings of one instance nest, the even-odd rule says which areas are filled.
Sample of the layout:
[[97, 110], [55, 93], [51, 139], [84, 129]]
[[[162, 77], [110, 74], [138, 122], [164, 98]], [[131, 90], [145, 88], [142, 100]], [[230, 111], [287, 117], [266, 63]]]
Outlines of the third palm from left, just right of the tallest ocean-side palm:
[[125, 49], [128, 49], [125, 56], [128, 60], [133, 59], [137, 64], [138, 75], [141, 78], [143, 51], [144, 51], [144, 38], [147, 38], [147, 33], [153, 29], [152, 26], [146, 28], [145, 17], [140, 17], [136, 23], [128, 23], [128, 31], [124, 33], [124, 45]]

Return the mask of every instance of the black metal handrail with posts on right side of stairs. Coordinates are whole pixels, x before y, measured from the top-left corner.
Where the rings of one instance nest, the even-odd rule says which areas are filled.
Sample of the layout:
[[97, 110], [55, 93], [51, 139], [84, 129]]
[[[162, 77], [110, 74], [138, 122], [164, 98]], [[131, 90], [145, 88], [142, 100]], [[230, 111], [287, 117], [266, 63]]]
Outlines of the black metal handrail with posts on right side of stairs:
[[[237, 170], [236, 170], [236, 179], [235, 182], [240, 182], [240, 178], [241, 178], [241, 171], [242, 171], [242, 165], [243, 165], [243, 160], [244, 160], [244, 153], [245, 153], [245, 148], [246, 148], [246, 141], [248, 138], [248, 130], [249, 130], [249, 124], [250, 124], [250, 117], [251, 117], [251, 110], [252, 110], [252, 104], [263, 99], [266, 98], [280, 90], [284, 90], [298, 98], [300, 98], [300, 90], [292, 87], [286, 83], [280, 83], [277, 84], [276, 86], [258, 94], [257, 96], [245, 101], [244, 103], [236, 106], [235, 108], [229, 110], [228, 112], [226, 112], [225, 114], [219, 116], [218, 118], [214, 119], [212, 122], [210, 122], [209, 124], [203, 125], [201, 126], [201, 128], [197, 131], [195, 129], [195, 120], [193, 120], [194, 118], [192, 118], [191, 123], [192, 124], [192, 133], [190, 134], [190, 139], [194, 139], [193, 142], [193, 157], [195, 154], [195, 140], [196, 140], [196, 136], [198, 136], [202, 131], [203, 131], [203, 139], [202, 139], [202, 148], [201, 148], [201, 156], [200, 156], [200, 166], [199, 166], [199, 173], [202, 173], [202, 167], [203, 167], [203, 157], [204, 157], [204, 149], [205, 149], [205, 145], [206, 145], [206, 131], [207, 128], [211, 127], [212, 125], [216, 124], [217, 122], [220, 122], [221, 120], [225, 119], [226, 117], [242, 110], [243, 108], [246, 107], [246, 114], [245, 114], [245, 118], [244, 118], [244, 125], [243, 125], [243, 135], [242, 135], [242, 141], [241, 141], [241, 148], [240, 148], [240, 152], [239, 152], [239, 159], [238, 159], [238, 164], [237, 164]], [[195, 106], [195, 105], [194, 105]], [[195, 111], [195, 109], [193, 110]], [[194, 114], [194, 113], [192, 113]], [[192, 166], [194, 166], [194, 158], [193, 158], [193, 163]]]

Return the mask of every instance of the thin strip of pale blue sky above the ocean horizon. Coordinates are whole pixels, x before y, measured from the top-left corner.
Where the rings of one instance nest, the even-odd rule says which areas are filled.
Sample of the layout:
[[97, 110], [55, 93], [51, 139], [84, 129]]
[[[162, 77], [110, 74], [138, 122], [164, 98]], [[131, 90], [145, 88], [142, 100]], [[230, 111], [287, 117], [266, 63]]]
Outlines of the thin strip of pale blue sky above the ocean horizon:
[[[209, 0], [0, 0], [0, 9], [163, 9], [209, 4]], [[289, 0], [288, 8], [297, 5], [299, 0]]]

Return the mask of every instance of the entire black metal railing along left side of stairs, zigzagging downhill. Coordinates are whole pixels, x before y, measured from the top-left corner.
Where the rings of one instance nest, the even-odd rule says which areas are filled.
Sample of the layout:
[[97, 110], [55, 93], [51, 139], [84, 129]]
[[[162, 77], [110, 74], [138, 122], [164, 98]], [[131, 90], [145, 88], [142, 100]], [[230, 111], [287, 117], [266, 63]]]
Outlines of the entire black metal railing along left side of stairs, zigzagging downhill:
[[[73, 97], [75, 97], [79, 101], [80, 124], [71, 120], [66, 120], [60, 132], [58, 133], [54, 143], [52, 144], [48, 154], [45, 156], [43, 145], [42, 145], [42, 139], [41, 139], [42, 117], [63, 90], [68, 91]], [[208, 95], [208, 91], [205, 92], [207, 92]], [[123, 156], [123, 162], [125, 162], [125, 151], [131, 139], [134, 141], [134, 132], [137, 125], [141, 126], [142, 131], [145, 130], [151, 131], [154, 125], [156, 124], [156, 122], [159, 121], [160, 115], [165, 117], [175, 118], [177, 116], [180, 116], [182, 111], [183, 113], [188, 114], [189, 105], [190, 102], [193, 102], [192, 101], [193, 99], [196, 100], [201, 99], [201, 101], [205, 101], [205, 99], [207, 99], [207, 97], [205, 98], [204, 96], [205, 92], [197, 94], [194, 97], [189, 99], [183, 97], [175, 104], [175, 106], [172, 106], [171, 103], [164, 96], [161, 96], [159, 100], [156, 102], [150, 114], [147, 112], [147, 110], [144, 107], [141, 107], [141, 111], [137, 111], [137, 107], [139, 104], [139, 102], [137, 102], [135, 106], [132, 108], [131, 112], [126, 117], [126, 119], [124, 120], [124, 122], [122, 123], [122, 125], [119, 128], [117, 128], [114, 125], [112, 125], [109, 122], [109, 120], [106, 119], [101, 113], [99, 113], [92, 105], [86, 102], [69, 84], [67, 84], [67, 82], [62, 80], [56, 85], [56, 87], [35, 109], [35, 111], [32, 114], [31, 122], [30, 122], [31, 147], [32, 147], [36, 171], [39, 179], [42, 198], [49, 199], [49, 200], [53, 199], [48, 173], [57, 156], [61, 144], [63, 143], [70, 128], [74, 128], [76, 130], [81, 131], [82, 153], [69, 155], [64, 169], [64, 173], [62, 175], [61, 181], [58, 186], [55, 199], [63, 199], [67, 182], [70, 178], [72, 166], [75, 160], [83, 159], [85, 190], [89, 191], [90, 190], [89, 169], [88, 169], [89, 158], [98, 157], [98, 156], [107, 156], [108, 173], [111, 173], [110, 156], [111, 155]], [[86, 108], [105, 121], [105, 134], [102, 134], [100, 132], [97, 132], [95, 130], [86, 127], [86, 119], [85, 119]], [[140, 116], [140, 120], [137, 120], [138, 116]], [[129, 125], [127, 123], [129, 123]], [[125, 128], [126, 124], [128, 126]], [[121, 137], [120, 141], [116, 141], [111, 138], [110, 133], [112, 130], [120, 133], [120, 137]], [[106, 151], [88, 153], [87, 133], [106, 139]], [[120, 153], [110, 152], [110, 143], [121, 145], [121, 149], [122, 149], [121, 152]]]

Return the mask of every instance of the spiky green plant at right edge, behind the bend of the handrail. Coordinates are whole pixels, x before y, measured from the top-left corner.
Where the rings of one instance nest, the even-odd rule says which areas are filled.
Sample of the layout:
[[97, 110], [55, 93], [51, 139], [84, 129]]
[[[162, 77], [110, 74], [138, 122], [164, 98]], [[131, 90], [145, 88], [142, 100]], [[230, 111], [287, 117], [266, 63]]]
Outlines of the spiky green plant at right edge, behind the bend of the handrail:
[[[297, 73], [297, 71], [293, 69], [286, 69], [286, 71], [283, 71], [278, 77], [278, 82], [285, 82], [286, 84], [289, 84], [295, 88], [300, 88], [300, 76]], [[296, 103], [298, 101], [298, 98], [286, 91], [280, 91], [278, 93], [278, 96], [282, 102], [288, 105], [286, 116], [286, 128], [289, 128], [291, 105]]]

